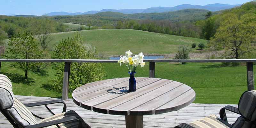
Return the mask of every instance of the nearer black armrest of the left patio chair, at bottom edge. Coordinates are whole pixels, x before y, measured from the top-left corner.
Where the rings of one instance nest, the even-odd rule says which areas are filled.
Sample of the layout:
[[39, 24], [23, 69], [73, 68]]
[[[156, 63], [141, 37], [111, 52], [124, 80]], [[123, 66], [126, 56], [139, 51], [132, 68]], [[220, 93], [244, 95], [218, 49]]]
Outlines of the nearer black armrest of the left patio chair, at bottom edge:
[[78, 128], [82, 127], [82, 122], [78, 118], [76, 118], [76, 116], [69, 116], [69, 117], [65, 117], [62, 119], [58, 119], [58, 120], [53, 120], [53, 121], [44, 122], [44, 123], [40, 123], [40, 124], [30, 125], [25, 128], [43, 128], [43, 127], [48, 127], [48, 126], [66, 123], [66, 122], [70, 122], [70, 121], [77, 121], [77, 122], [79, 122]]

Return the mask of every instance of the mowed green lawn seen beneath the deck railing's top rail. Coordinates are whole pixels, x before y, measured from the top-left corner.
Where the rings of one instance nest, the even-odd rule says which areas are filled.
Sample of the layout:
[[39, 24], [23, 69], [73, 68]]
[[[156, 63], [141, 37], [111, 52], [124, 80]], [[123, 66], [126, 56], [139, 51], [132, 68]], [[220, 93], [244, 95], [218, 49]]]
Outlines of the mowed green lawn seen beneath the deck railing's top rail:
[[[55, 75], [51, 67], [43, 74], [29, 72], [30, 83], [26, 83], [24, 72], [9, 68], [9, 64], [2, 63], [1, 74], [6, 74], [12, 80], [15, 95], [61, 97], [60, 93], [44, 88]], [[107, 73], [104, 79], [129, 76], [126, 67], [117, 63], [103, 65]], [[148, 66], [149, 63], [146, 63], [144, 68], [137, 68], [135, 76], [148, 77]], [[195, 103], [237, 104], [240, 95], [247, 90], [245, 66], [222, 67], [220, 63], [156, 63], [155, 77], [191, 86], [196, 91]]]

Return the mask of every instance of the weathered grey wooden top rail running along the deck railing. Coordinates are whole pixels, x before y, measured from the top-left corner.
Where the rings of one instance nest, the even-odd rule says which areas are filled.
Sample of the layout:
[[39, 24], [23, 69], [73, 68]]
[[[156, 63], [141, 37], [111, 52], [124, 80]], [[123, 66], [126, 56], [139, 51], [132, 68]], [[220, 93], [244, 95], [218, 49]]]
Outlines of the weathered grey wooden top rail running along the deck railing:
[[[84, 59], [0, 59], [0, 62], [84, 62], [84, 63], [116, 63], [117, 60], [84, 60]], [[144, 62], [256, 62], [256, 59], [218, 59], [218, 60], [153, 60]]]

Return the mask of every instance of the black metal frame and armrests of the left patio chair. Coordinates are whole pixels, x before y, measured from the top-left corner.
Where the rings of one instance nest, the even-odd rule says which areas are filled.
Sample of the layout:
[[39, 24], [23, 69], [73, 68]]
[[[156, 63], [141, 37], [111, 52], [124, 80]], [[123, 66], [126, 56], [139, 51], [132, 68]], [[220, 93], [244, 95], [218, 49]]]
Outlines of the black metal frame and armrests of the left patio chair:
[[[67, 110], [67, 105], [66, 103], [63, 101], [63, 100], [51, 100], [51, 101], [42, 101], [42, 102], [36, 102], [36, 103], [29, 103], [29, 104], [24, 104], [26, 107], [35, 107], [35, 106], [41, 106], [41, 105], [44, 105], [47, 110], [52, 114], [52, 115], [55, 115], [49, 108], [47, 105], [50, 105], [50, 104], [55, 104], [55, 103], [62, 103], [63, 104], [63, 110], [62, 112], [66, 112]], [[19, 124], [16, 124], [14, 122], [14, 119], [12, 119], [10, 116], [8, 116], [8, 114], [6, 113], [6, 111], [1, 111], [2, 114], [7, 118], [7, 120], [12, 124], [12, 126], [14, 128], [20, 128], [19, 127]], [[33, 114], [33, 113], [32, 113]], [[33, 116], [36, 116], [37, 118], [40, 118], [40, 119], [44, 119], [40, 116], [37, 116], [35, 114], [33, 114]], [[27, 126], [25, 128], [43, 128], [43, 127], [48, 127], [48, 126], [52, 126], [52, 125], [56, 125], [58, 128], [60, 128], [60, 126], [58, 124], [61, 124], [61, 123], [66, 123], [66, 122], [71, 122], [71, 121], [77, 121], [78, 122], [78, 128], [82, 128], [83, 127], [83, 124], [82, 122], [75, 116], [69, 116], [69, 117], [66, 117], [66, 118], [63, 118], [63, 119], [58, 119], [58, 120], [53, 120], [53, 121], [49, 121], [49, 122], [44, 122], [44, 123], [40, 123], [40, 124], [35, 124], [35, 125], [30, 125], [30, 126]]]

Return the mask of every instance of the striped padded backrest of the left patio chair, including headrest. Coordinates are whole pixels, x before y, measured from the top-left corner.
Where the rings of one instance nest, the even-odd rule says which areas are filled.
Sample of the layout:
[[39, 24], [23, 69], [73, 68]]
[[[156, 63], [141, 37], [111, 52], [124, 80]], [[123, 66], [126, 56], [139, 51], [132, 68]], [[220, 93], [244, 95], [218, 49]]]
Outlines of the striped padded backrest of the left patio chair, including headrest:
[[0, 111], [14, 127], [37, 124], [36, 118], [28, 108], [14, 97], [11, 80], [2, 74], [0, 74]]

